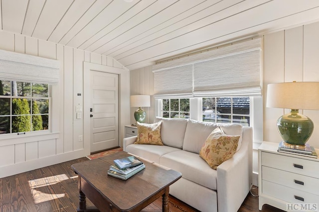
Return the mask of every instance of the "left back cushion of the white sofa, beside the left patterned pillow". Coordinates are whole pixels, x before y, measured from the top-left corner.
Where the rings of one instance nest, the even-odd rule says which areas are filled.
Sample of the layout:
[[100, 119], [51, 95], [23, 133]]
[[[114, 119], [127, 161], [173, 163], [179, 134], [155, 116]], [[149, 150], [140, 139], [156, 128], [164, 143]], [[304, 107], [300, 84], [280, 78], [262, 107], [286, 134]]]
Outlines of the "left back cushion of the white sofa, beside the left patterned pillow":
[[156, 117], [161, 121], [160, 136], [164, 145], [182, 148], [188, 119], [169, 119]]

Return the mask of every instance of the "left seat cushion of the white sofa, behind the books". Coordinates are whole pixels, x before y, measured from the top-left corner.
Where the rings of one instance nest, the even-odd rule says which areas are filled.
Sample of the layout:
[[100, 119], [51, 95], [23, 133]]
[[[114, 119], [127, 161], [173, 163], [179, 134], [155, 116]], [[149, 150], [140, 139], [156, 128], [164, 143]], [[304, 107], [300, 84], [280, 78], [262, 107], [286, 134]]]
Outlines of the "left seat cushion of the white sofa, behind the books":
[[130, 144], [126, 146], [125, 149], [125, 151], [127, 152], [146, 158], [156, 163], [160, 163], [160, 156], [178, 150], [180, 149], [171, 146], [159, 146], [149, 144]]

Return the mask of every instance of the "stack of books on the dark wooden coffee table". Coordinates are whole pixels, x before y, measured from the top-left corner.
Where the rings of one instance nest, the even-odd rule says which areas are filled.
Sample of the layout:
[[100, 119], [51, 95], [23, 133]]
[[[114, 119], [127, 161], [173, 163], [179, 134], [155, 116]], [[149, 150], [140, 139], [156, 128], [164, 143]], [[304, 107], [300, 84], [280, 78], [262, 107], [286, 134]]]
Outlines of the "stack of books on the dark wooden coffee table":
[[108, 175], [127, 180], [139, 171], [145, 169], [145, 164], [135, 156], [128, 156], [113, 161], [114, 165], [110, 166]]

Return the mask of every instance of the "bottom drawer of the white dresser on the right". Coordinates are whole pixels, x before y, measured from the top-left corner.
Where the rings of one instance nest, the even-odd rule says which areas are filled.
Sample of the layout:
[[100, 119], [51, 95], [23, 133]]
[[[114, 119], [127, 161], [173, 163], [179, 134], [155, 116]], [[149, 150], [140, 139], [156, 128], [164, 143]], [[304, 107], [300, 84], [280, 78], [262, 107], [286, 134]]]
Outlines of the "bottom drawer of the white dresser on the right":
[[266, 180], [263, 183], [263, 194], [281, 199], [288, 203], [317, 203], [319, 204], [319, 196], [308, 192], [293, 189], [287, 186], [272, 183]]

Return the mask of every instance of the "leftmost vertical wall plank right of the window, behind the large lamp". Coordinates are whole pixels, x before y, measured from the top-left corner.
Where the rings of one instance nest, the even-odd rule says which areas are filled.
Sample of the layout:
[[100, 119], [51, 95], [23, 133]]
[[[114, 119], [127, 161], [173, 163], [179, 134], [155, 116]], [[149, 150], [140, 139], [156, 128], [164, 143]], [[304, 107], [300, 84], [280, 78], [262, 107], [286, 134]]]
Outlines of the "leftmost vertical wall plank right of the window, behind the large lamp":
[[264, 140], [280, 142], [277, 119], [284, 114], [284, 109], [267, 108], [267, 85], [284, 81], [285, 69], [285, 33], [264, 36]]

